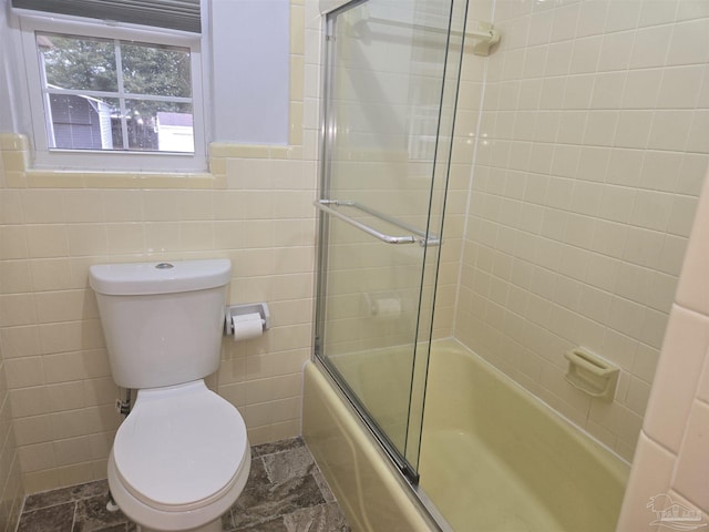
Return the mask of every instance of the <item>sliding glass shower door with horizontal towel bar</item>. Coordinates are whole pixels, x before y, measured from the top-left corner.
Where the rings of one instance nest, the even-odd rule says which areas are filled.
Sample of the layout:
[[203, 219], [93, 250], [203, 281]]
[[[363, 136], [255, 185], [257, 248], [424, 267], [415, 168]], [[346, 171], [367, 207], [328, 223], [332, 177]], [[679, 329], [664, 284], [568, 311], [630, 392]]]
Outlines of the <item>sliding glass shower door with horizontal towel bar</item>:
[[464, 21], [451, 0], [327, 18], [316, 355], [413, 481]]

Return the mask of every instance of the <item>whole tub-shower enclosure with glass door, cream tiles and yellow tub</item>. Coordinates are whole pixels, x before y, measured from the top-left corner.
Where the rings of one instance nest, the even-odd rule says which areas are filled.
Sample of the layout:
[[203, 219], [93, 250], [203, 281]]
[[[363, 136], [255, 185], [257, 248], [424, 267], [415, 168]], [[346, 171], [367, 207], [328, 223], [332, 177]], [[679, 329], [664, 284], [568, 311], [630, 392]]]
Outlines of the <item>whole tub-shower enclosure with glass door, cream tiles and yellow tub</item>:
[[[615, 530], [709, 161], [706, 2], [329, 3], [304, 434], [366, 523], [325, 367], [454, 530]], [[614, 397], [568, 379], [578, 347]]]

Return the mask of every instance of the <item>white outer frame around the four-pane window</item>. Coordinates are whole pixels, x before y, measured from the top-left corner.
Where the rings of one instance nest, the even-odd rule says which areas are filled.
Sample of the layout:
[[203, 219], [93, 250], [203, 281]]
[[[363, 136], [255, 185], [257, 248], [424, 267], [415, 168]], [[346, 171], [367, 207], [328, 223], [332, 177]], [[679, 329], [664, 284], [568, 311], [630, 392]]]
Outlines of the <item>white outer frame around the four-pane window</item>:
[[[110, 24], [94, 19], [68, 16], [37, 16], [19, 12], [20, 39], [27, 73], [30, 120], [33, 134], [34, 161], [38, 170], [86, 170], [104, 172], [204, 172], [207, 170], [207, 124], [205, 94], [208, 94], [203, 74], [203, 37], [178, 30]], [[194, 153], [142, 152], [129, 150], [66, 150], [49, 147], [47, 131], [48, 110], [43, 91], [42, 65], [35, 32], [60, 33], [73, 37], [115, 39], [189, 49]]]

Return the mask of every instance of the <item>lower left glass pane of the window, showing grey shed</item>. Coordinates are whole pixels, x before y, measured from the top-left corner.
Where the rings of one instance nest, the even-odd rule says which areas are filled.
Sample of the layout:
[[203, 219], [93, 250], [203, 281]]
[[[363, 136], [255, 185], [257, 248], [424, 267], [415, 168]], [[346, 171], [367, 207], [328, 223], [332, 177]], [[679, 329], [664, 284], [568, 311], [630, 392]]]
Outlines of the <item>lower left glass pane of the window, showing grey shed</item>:
[[63, 150], [113, 150], [113, 122], [119, 101], [73, 94], [49, 94], [48, 122], [51, 147]]

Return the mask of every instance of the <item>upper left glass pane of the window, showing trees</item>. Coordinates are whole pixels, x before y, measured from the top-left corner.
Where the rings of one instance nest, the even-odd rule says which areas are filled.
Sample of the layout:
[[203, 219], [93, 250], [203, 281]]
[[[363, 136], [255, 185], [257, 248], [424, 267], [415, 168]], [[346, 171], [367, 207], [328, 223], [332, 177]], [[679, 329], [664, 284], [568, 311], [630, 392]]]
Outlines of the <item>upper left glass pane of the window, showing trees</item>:
[[114, 41], [38, 33], [37, 45], [51, 88], [117, 91]]

